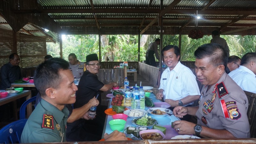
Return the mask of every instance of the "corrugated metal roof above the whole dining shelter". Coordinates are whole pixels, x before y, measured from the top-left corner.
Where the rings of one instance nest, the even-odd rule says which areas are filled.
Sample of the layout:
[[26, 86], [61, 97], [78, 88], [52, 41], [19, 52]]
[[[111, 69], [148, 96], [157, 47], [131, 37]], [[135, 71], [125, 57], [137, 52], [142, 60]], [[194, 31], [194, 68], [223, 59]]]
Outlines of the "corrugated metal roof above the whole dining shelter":
[[[18, 0], [14, 1], [19, 3]], [[51, 18], [49, 20], [54, 20], [58, 24], [60, 31], [55, 28], [50, 29], [52, 31], [47, 33], [40, 32], [44, 26], [41, 26], [42, 28], [37, 27], [39, 30], [36, 31], [37, 28], [29, 24], [24, 26], [24, 29], [37, 36], [49, 34], [57, 41], [59, 39], [57, 33], [60, 33], [61, 30], [68, 31], [70, 34], [78, 31], [86, 34], [89, 30], [93, 30], [95, 34], [98, 34], [99, 31], [102, 32], [111, 29], [111, 27], [119, 28], [116, 30], [120, 32], [129, 27], [135, 28], [134, 33], [137, 33], [142, 22], [141, 30], [146, 28], [161, 12], [164, 12], [163, 26], [173, 27], [169, 29], [177, 29], [177, 27], [185, 25], [187, 27], [195, 26], [196, 10], [199, 13], [198, 16], [201, 17], [201, 19], [197, 20], [197, 24], [200, 27], [222, 28], [224, 26], [221, 30], [225, 31], [225, 28], [229, 30], [256, 25], [256, 15], [254, 15], [256, 13], [255, 0], [216, 0], [213, 3], [211, 3], [211, 0], [181, 0], [168, 11], [165, 11], [165, 8], [176, 1], [163, 0], [162, 10], [160, 10], [161, 0], [152, 0], [151, 4], [150, 2], [151, 0], [92, 0], [91, 4], [90, 0], [37, 0], [39, 6], [34, 6], [35, 9], [29, 9], [30, 11], [28, 10], [29, 12], [27, 13], [32, 13], [35, 16], [40, 15], [40, 13], [47, 13]], [[25, 3], [29, 5], [27, 1], [22, 2], [20, 5], [26, 5]], [[33, 5], [28, 7], [33, 7]], [[19, 9], [27, 10], [27, 7], [19, 7]], [[18, 13], [20, 12], [18, 11]], [[145, 20], [143, 20], [144, 17], [146, 18]], [[150, 25], [149, 29], [154, 31], [155, 27], [159, 25], [158, 20], [153, 25]], [[1, 22], [6, 23], [6, 20], [0, 17]], [[228, 25], [228, 23], [231, 24]], [[228, 25], [228, 27], [225, 25]], [[45, 28], [48, 27], [48, 25], [45, 26]], [[1, 24], [0, 28], [11, 29], [6, 24]]]

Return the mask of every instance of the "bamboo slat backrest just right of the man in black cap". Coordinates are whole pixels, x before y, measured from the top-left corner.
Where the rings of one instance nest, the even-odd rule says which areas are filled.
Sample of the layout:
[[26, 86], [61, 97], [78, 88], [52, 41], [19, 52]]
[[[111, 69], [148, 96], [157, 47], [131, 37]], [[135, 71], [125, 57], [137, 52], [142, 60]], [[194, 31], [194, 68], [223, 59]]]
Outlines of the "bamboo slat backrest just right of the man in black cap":
[[[98, 79], [103, 84], [109, 84], [116, 82], [118, 85], [122, 85], [124, 81], [124, 69], [123, 68], [112, 68], [112, 69], [100, 69], [98, 73]], [[108, 98], [106, 95], [111, 93], [110, 91], [101, 93], [101, 105], [108, 106]]]

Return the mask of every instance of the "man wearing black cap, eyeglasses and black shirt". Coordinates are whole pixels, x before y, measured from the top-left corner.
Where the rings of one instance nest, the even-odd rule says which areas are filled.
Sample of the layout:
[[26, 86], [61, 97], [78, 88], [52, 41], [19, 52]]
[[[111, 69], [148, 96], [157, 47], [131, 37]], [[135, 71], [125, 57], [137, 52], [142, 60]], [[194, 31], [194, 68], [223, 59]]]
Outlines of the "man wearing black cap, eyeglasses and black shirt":
[[[76, 91], [76, 102], [74, 108], [80, 108], [86, 104], [93, 97], [98, 96], [99, 102], [101, 102], [101, 91], [107, 92], [113, 86], [117, 86], [116, 82], [110, 84], [103, 84], [99, 81], [96, 74], [99, 73], [100, 63], [97, 54], [89, 54], [86, 56], [86, 71], [80, 79], [78, 84], [78, 90]], [[86, 137], [86, 132], [90, 133], [90, 137], [84, 138], [85, 141], [97, 141], [101, 139], [106, 114], [104, 111], [107, 109], [106, 106], [98, 105], [96, 109], [96, 117], [93, 120], [79, 120], [79, 125], [83, 126], [85, 133], [79, 134], [79, 136]], [[75, 131], [75, 129], [74, 129]], [[94, 134], [94, 136], [92, 136]], [[74, 138], [76, 139], [76, 138]], [[80, 137], [79, 139], [82, 139]]]

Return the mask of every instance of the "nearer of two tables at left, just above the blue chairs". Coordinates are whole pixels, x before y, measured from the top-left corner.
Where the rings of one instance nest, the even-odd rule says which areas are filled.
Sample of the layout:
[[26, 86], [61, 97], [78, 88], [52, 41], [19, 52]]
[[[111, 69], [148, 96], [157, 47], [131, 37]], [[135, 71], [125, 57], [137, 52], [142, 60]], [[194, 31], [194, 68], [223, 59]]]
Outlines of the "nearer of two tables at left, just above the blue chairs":
[[[4, 92], [4, 90], [0, 90], [2, 92]], [[16, 100], [26, 97], [26, 100], [31, 98], [31, 91], [22, 91], [19, 92], [17, 94], [8, 94], [7, 97], [5, 98], [0, 98], [0, 106], [12, 102], [13, 103], [13, 116], [15, 120], [18, 120], [18, 110], [17, 110], [17, 102]], [[29, 103], [27, 105], [27, 115], [28, 117], [30, 116], [30, 114], [32, 113], [32, 104]]]

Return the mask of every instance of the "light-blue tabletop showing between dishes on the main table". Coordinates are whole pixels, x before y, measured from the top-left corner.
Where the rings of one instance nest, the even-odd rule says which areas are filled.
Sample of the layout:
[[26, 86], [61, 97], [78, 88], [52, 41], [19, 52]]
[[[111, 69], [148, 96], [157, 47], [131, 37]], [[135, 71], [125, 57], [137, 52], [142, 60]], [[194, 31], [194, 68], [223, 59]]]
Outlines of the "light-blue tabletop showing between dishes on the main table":
[[[153, 100], [153, 102], [162, 102], [160, 100], [156, 100], [156, 96], [151, 93], [149, 98], [151, 98]], [[109, 100], [109, 104], [108, 104], [108, 108], [112, 108], [112, 106], [110, 105], [111, 103], [111, 100]], [[149, 108], [145, 107], [144, 110], [148, 110]], [[171, 112], [172, 113], [172, 112]], [[174, 128], [171, 127], [172, 125], [172, 122], [174, 121], [177, 121], [177, 120], [180, 120], [178, 117], [174, 116], [174, 115], [167, 115], [167, 116], [164, 116], [164, 117], [154, 117], [152, 116], [151, 114], [148, 114], [148, 116], [151, 116], [152, 118], [156, 119], [158, 124], [166, 127], [166, 134], [165, 134], [165, 139], [168, 140], [168, 139], [171, 139], [172, 137], [176, 136], [176, 135], [179, 135], [178, 132], [176, 132], [174, 130]], [[113, 132], [110, 128], [110, 125], [108, 124], [109, 121], [113, 120], [112, 118], [112, 115], [107, 115], [106, 116], [106, 119], [105, 119], [105, 124], [104, 124], [104, 129], [103, 129], [103, 133], [102, 133], [102, 139], [103, 139], [103, 136], [104, 136], [104, 133], [111, 133]], [[132, 124], [132, 118], [128, 117], [127, 120], [126, 120], [126, 124], [124, 126], [124, 129], [126, 129], [126, 127], [128, 126], [135, 126], [134, 124]], [[149, 126], [148, 128], [149, 129], [152, 129], [153, 126]], [[123, 132], [124, 129], [120, 132]]]

